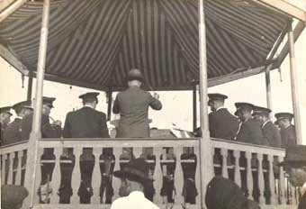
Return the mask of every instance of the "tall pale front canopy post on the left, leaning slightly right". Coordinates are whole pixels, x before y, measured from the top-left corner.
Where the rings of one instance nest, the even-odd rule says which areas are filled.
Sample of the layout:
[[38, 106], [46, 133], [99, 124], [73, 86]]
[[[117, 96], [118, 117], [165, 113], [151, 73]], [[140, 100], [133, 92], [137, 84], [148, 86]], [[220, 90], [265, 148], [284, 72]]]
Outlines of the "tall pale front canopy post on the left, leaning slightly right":
[[25, 205], [32, 208], [34, 205], [35, 191], [35, 178], [36, 169], [38, 168], [38, 149], [39, 140], [41, 139], [40, 123], [41, 123], [41, 110], [42, 110], [42, 92], [43, 92], [43, 79], [46, 65], [47, 45], [48, 45], [48, 27], [49, 27], [49, 0], [44, 0], [42, 11], [42, 23], [40, 31], [40, 50], [37, 64], [36, 76], [36, 92], [34, 113], [31, 126], [31, 134], [28, 142], [28, 156], [27, 167], [25, 173], [25, 187], [29, 190], [29, 197], [25, 200]]

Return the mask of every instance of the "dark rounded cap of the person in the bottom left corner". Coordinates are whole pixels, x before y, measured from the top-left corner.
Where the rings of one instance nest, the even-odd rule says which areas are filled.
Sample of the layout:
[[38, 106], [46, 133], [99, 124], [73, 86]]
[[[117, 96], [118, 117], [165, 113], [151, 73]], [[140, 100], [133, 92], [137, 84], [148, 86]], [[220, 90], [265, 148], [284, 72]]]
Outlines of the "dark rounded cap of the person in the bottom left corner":
[[1, 186], [1, 208], [19, 209], [23, 206], [23, 200], [29, 192], [23, 186], [3, 185]]

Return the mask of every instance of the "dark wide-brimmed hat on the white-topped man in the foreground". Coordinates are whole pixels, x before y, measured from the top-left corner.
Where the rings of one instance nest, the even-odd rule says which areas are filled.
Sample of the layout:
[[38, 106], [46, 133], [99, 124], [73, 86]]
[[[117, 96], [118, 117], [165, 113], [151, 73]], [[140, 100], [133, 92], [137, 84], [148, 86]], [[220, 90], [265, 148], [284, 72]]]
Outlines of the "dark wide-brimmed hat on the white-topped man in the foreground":
[[148, 163], [143, 158], [131, 159], [123, 169], [114, 171], [113, 176], [120, 178], [131, 178], [140, 183], [152, 180], [148, 176]]

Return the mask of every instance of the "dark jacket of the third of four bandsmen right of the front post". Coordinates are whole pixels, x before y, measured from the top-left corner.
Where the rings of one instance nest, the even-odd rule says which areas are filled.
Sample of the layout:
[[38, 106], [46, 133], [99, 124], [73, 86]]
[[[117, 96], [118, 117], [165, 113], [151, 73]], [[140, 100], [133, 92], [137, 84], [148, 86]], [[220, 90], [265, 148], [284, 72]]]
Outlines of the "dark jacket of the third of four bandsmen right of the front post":
[[268, 142], [269, 146], [280, 148], [282, 144], [281, 133], [272, 122], [267, 122], [263, 127], [264, 140]]

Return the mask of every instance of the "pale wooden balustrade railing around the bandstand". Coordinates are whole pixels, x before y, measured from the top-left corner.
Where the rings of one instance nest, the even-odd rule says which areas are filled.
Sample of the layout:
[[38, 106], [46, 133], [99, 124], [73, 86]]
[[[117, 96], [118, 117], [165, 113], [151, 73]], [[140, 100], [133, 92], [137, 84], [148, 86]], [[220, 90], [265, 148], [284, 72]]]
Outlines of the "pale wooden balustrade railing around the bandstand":
[[[283, 168], [278, 168], [277, 163], [284, 159], [284, 150], [275, 149], [265, 146], [257, 146], [237, 141], [224, 141], [212, 139], [211, 146], [214, 148], [211, 153], [214, 158], [214, 172], [223, 177], [229, 177], [241, 186], [248, 198], [257, 200], [260, 204], [296, 204], [295, 188], [287, 183], [284, 177]], [[184, 170], [183, 165], [191, 163], [195, 165], [195, 187], [200, 193], [200, 168], [199, 168], [199, 139], [43, 139], [39, 141], [39, 158], [43, 149], [54, 148], [55, 159], [40, 161], [40, 163], [54, 163], [52, 181], [50, 186], [53, 188], [53, 195], [50, 198], [50, 204], [58, 204], [57, 190], [60, 185], [60, 168], [62, 160], [59, 159], [63, 153], [63, 148], [73, 148], [75, 162], [79, 162], [83, 148], [93, 148], [94, 154], [94, 172], [93, 172], [93, 190], [94, 195], [91, 198], [91, 204], [100, 204], [100, 155], [102, 148], [113, 148], [115, 156], [114, 170], [120, 169], [120, 163], [125, 162], [120, 159], [122, 148], [133, 148], [133, 155], [138, 158], [143, 153], [143, 148], [152, 148], [155, 160], [148, 160], [155, 163], [153, 173], [154, 202], [156, 204], [166, 204], [165, 197], [160, 195], [162, 188], [162, 179], [165, 176], [163, 166], [166, 163], [175, 165], [174, 185], [175, 185], [175, 204], [183, 204], [185, 196], [183, 193]], [[171, 148], [175, 159], [165, 159], [165, 149]], [[20, 185], [23, 182], [23, 159], [24, 152], [27, 149], [27, 142], [22, 142], [1, 148], [2, 167], [1, 177], [2, 184]], [[193, 153], [193, 158], [184, 158], [183, 154]], [[162, 157], [160, 157], [162, 156]], [[187, 155], [188, 156], [188, 155]], [[183, 157], [183, 158], [182, 158]], [[12, 163], [14, 162], [14, 163]], [[69, 162], [66, 162], [69, 163]], [[31, 172], [31, 170], [26, 170]], [[40, 167], [35, 174], [36, 191], [40, 186]], [[72, 175], [71, 204], [79, 204], [77, 190], [80, 185], [80, 165], [75, 163]], [[26, 181], [26, 179], [25, 179]], [[112, 200], [119, 197], [118, 191], [121, 180], [113, 177], [112, 187], [114, 195]], [[265, 195], [266, 194], [266, 195]], [[200, 195], [196, 196], [195, 204], [200, 203]], [[39, 203], [39, 196], [35, 195], [35, 203]], [[192, 206], [193, 207], [193, 206]], [[68, 208], [68, 207], [67, 207]]]

